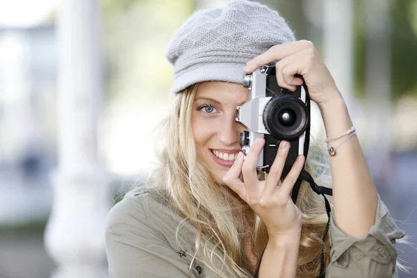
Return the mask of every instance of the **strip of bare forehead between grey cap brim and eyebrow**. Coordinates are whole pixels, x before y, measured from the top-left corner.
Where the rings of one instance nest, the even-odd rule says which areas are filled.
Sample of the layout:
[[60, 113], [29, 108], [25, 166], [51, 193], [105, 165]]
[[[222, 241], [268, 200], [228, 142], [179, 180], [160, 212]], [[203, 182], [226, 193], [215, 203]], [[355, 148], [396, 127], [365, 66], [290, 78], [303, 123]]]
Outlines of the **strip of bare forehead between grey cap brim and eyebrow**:
[[247, 101], [249, 89], [242, 84], [211, 81], [198, 85], [195, 99], [210, 98], [222, 104], [243, 104]]

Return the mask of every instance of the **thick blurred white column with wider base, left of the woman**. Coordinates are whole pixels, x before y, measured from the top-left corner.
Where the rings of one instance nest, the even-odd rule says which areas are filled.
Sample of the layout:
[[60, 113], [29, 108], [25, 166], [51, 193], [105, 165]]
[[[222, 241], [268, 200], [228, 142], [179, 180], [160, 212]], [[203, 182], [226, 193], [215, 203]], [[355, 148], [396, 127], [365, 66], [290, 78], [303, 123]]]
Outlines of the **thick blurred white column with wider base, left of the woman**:
[[101, 103], [97, 0], [63, 0], [58, 13], [58, 168], [45, 247], [51, 277], [106, 277], [108, 186], [97, 158]]

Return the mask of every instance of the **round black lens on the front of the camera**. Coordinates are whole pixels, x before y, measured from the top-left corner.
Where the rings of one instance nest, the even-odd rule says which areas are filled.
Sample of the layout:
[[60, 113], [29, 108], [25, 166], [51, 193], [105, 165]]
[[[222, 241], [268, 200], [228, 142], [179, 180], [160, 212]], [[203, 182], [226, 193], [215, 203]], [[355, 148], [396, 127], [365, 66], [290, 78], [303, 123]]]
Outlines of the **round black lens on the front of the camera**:
[[279, 140], [297, 140], [307, 128], [309, 115], [303, 101], [291, 95], [272, 97], [263, 110], [263, 124]]

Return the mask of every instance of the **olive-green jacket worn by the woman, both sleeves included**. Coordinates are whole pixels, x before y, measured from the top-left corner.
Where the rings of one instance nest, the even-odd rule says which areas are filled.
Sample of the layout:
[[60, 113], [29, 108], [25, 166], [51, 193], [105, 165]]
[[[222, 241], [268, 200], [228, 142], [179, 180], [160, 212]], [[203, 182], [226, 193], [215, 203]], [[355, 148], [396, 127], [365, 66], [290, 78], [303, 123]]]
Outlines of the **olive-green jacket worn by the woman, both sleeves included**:
[[[175, 231], [181, 220], [149, 193], [127, 197], [113, 206], [106, 226], [110, 277], [217, 277], [186, 254], [185, 251], [193, 254], [197, 234], [189, 222], [183, 221], [179, 243], [176, 242]], [[367, 236], [357, 239], [343, 234], [334, 222], [333, 213], [330, 231], [332, 251], [326, 277], [398, 277], [395, 240], [404, 237], [404, 232], [398, 229], [380, 199], [375, 225]], [[213, 250], [213, 245], [208, 247]], [[214, 258], [215, 263], [222, 265], [217, 256]], [[248, 271], [247, 275], [252, 277]]]

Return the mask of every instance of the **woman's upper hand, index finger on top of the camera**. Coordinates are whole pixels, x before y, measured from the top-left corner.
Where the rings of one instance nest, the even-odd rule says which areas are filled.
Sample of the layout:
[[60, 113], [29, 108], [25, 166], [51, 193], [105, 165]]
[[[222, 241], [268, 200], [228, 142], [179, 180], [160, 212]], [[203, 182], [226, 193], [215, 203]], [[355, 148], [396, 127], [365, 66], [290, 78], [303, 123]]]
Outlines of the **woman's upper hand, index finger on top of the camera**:
[[278, 85], [291, 91], [295, 91], [297, 85], [302, 85], [302, 79], [295, 74], [303, 76], [311, 99], [320, 107], [332, 102], [333, 99], [341, 99], [336, 83], [323, 63], [320, 54], [313, 42], [298, 40], [277, 44], [265, 53], [256, 56], [243, 69], [246, 74], [254, 72], [258, 67], [277, 61], [276, 76]]

